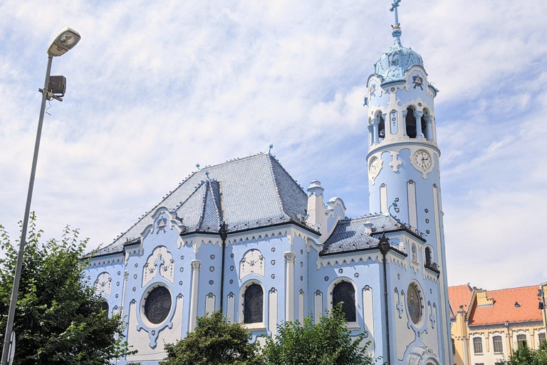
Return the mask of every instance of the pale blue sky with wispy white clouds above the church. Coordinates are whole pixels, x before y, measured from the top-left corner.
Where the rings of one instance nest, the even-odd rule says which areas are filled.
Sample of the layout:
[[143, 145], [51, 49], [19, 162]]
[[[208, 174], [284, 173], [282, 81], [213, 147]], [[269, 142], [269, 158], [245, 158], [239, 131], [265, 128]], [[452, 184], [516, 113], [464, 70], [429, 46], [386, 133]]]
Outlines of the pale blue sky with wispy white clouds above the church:
[[[368, 214], [365, 84], [390, 0], [0, 1], [0, 224], [24, 215], [46, 49], [67, 78], [44, 119], [32, 210], [109, 244], [196, 170], [272, 153]], [[402, 0], [435, 100], [450, 285], [547, 279], [547, 4]]]

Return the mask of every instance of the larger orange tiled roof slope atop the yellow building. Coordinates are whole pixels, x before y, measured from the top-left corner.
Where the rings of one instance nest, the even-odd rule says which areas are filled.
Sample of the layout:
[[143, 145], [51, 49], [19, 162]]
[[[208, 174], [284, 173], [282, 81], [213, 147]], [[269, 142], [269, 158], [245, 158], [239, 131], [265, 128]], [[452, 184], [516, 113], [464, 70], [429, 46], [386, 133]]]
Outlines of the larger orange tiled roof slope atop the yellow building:
[[[494, 305], [476, 307], [475, 302], [469, 325], [542, 321], [541, 310], [538, 309], [538, 288], [538, 285], [532, 285], [489, 291], [488, 297], [494, 299]], [[519, 302], [521, 307], [515, 307], [515, 302]]]

